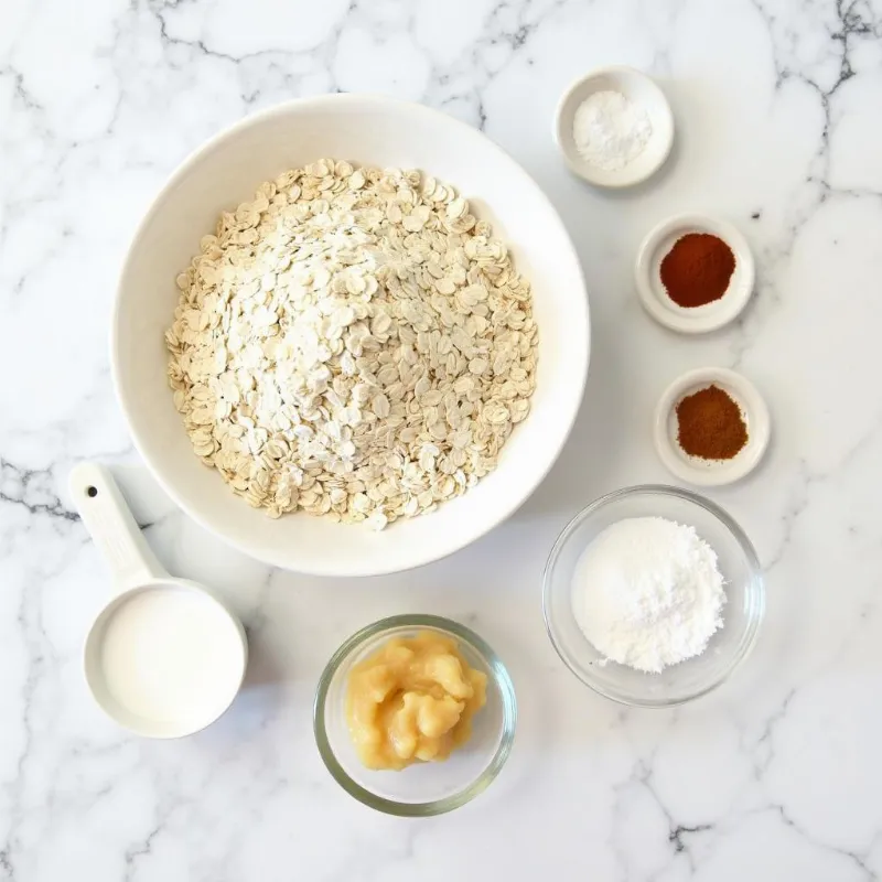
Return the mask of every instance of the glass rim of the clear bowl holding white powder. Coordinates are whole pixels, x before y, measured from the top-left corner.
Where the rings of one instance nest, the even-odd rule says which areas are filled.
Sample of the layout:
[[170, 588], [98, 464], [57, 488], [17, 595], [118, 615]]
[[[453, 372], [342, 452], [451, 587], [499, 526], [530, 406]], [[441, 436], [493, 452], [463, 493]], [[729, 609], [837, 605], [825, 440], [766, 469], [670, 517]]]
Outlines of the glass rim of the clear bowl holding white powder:
[[[712, 680], [704, 688], [699, 689], [691, 695], [686, 695], [681, 698], [674, 698], [674, 699], [634, 699], [634, 698], [626, 698], [621, 693], [615, 692], [614, 690], [606, 689], [600, 684], [593, 681], [589, 677], [585, 677], [581, 670], [579, 670], [569, 659], [567, 654], [563, 652], [562, 646], [560, 645], [557, 638], [557, 628], [553, 625], [553, 616], [550, 613], [550, 603], [549, 603], [549, 594], [550, 594], [550, 577], [551, 571], [553, 570], [555, 563], [557, 562], [558, 557], [560, 556], [560, 551], [563, 548], [563, 545], [570, 538], [572, 533], [589, 517], [594, 515], [601, 508], [605, 506], [620, 502], [623, 498], [627, 498], [631, 496], [639, 496], [639, 495], [660, 495], [660, 496], [676, 496], [680, 499], [685, 499], [688, 503], [692, 503], [693, 505], [703, 508], [710, 515], [716, 517], [731, 534], [735, 541], [741, 547], [744, 557], [747, 560], [747, 566], [750, 568], [750, 589], [753, 592], [753, 600], [756, 606], [756, 613], [751, 619], [747, 628], [742, 636], [742, 639], [738, 646], [736, 652], [733, 654], [729, 666], [722, 673], [720, 677], [716, 680]], [[599, 498], [594, 499], [592, 503], [589, 503], [581, 512], [579, 512], [568, 524], [567, 526], [560, 531], [560, 535], [555, 540], [555, 545], [551, 547], [551, 551], [548, 556], [548, 560], [546, 561], [545, 569], [542, 570], [542, 619], [545, 620], [545, 627], [548, 634], [549, 639], [551, 641], [551, 645], [555, 647], [555, 652], [560, 657], [560, 660], [569, 668], [569, 670], [576, 675], [576, 677], [583, 682], [589, 689], [592, 689], [600, 696], [604, 698], [609, 698], [612, 701], [617, 702], [619, 704], [624, 704], [626, 707], [632, 708], [673, 708], [677, 707], [678, 704], [686, 704], [689, 701], [695, 701], [697, 698], [701, 698], [702, 696], [712, 692], [714, 689], [722, 686], [732, 674], [741, 666], [741, 664], [750, 655], [751, 650], [753, 649], [754, 645], [756, 644], [756, 638], [760, 632], [760, 625], [763, 622], [763, 617], [765, 615], [765, 582], [763, 580], [763, 570], [760, 564], [760, 559], [756, 555], [756, 551], [751, 542], [750, 538], [747, 538], [747, 534], [741, 528], [738, 521], [723, 508], [721, 508], [716, 503], [711, 502], [704, 496], [701, 496], [698, 493], [695, 493], [689, 490], [685, 490], [684, 487], [675, 487], [669, 484], [635, 484], [634, 486], [630, 487], [622, 487], [620, 490], [612, 491]], [[648, 676], [648, 675], [647, 675]]]

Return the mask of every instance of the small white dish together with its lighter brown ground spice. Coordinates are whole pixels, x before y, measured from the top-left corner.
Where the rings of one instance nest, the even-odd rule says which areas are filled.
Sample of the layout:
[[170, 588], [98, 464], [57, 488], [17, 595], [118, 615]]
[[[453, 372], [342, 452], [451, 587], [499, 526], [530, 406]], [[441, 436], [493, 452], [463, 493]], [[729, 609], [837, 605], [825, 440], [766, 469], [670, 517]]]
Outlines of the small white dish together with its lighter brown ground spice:
[[722, 367], [689, 370], [655, 411], [655, 448], [681, 481], [721, 486], [752, 472], [768, 447], [768, 408], [756, 387]]

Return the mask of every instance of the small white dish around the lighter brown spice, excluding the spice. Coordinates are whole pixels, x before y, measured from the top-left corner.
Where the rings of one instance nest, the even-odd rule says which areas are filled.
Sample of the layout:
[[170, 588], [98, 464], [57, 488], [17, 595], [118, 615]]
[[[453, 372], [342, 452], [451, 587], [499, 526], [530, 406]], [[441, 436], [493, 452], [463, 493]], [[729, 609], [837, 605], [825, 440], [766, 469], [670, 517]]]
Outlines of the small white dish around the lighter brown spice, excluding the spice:
[[[690, 456], [677, 440], [677, 402], [711, 385], [734, 399], [747, 426], [747, 443], [731, 460]], [[653, 440], [659, 459], [681, 481], [704, 487], [732, 484], [752, 472], [763, 459], [770, 434], [768, 408], [756, 387], [741, 374], [723, 367], [699, 367], [678, 377], [665, 389], [655, 410]]]

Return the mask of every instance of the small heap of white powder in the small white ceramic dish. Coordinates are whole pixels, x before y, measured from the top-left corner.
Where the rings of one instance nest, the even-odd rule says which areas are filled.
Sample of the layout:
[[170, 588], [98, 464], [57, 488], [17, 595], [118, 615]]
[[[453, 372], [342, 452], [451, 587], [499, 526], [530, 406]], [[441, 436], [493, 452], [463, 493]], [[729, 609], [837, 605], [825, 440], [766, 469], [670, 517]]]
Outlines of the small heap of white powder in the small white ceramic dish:
[[595, 92], [576, 109], [572, 137], [587, 162], [605, 172], [624, 169], [649, 142], [646, 111], [620, 92]]

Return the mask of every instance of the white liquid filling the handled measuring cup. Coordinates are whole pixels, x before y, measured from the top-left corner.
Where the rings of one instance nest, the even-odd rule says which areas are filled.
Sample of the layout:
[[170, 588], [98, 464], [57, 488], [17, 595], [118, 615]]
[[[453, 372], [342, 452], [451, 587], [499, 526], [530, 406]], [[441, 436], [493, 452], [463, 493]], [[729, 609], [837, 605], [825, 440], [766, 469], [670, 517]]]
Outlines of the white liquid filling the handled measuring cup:
[[128, 712], [152, 722], [211, 722], [238, 688], [241, 644], [211, 598], [157, 587], [119, 606], [99, 659], [107, 689]]

